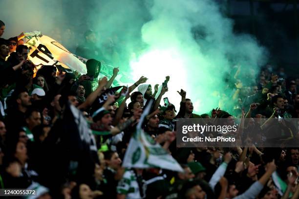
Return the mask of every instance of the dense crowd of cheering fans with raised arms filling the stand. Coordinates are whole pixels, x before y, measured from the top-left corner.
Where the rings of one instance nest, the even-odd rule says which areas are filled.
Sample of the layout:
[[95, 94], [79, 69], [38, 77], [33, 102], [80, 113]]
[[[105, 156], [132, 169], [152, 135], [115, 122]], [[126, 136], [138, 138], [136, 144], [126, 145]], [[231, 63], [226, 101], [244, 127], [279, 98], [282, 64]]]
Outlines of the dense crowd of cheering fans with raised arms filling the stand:
[[[242, 67], [232, 67], [235, 76], [227, 80], [232, 92], [219, 93], [220, 109], [197, 115], [195, 99], [188, 99], [183, 89], [177, 92], [178, 111], [170, 102], [160, 105], [171, 74], [160, 91], [158, 85], [146, 84], [146, 74], [129, 87], [111, 89], [119, 69], [109, 80], [98, 78], [101, 63], [109, 60], [96, 46], [93, 31], [85, 33], [75, 52], [87, 59], [87, 74], [80, 75], [52, 65], [36, 70], [23, 34], [5, 40], [4, 29], [0, 21], [0, 188], [37, 190], [28, 197], [36, 199], [299, 198], [299, 148], [264, 148], [257, 141], [251, 147], [177, 148], [175, 131], [180, 118], [247, 118], [252, 122], [239, 125], [238, 131], [247, 135], [254, 129], [259, 141], [267, 139], [266, 132], [285, 123], [258, 119], [299, 118], [299, 74], [288, 77], [283, 67], [267, 65], [251, 78]], [[107, 91], [113, 95], [99, 103]], [[142, 129], [183, 172], [122, 167], [148, 106]], [[296, 129], [289, 129], [291, 137], [281, 137], [297, 140]]]

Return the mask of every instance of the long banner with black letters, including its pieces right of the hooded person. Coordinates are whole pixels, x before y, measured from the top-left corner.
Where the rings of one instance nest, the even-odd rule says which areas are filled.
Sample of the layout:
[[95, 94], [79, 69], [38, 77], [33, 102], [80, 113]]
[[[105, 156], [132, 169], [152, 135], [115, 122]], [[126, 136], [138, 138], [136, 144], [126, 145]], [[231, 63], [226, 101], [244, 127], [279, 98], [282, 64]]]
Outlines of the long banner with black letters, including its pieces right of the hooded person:
[[[53, 65], [58, 70], [64, 72], [78, 71], [81, 74], [86, 74], [87, 59], [74, 55], [69, 52], [61, 43], [56, 40], [43, 35], [40, 31], [33, 31], [24, 33], [25, 45], [29, 48], [28, 59], [31, 60], [37, 69], [42, 65]], [[111, 78], [113, 74], [113, 66], [101, 63], [101, 71], [98, 78]], [[120, 71], [116, 79], [113, 81], [113, 86], [127, 85], [128, 82], [134, 82], [130, 78], [131, 74]]]

